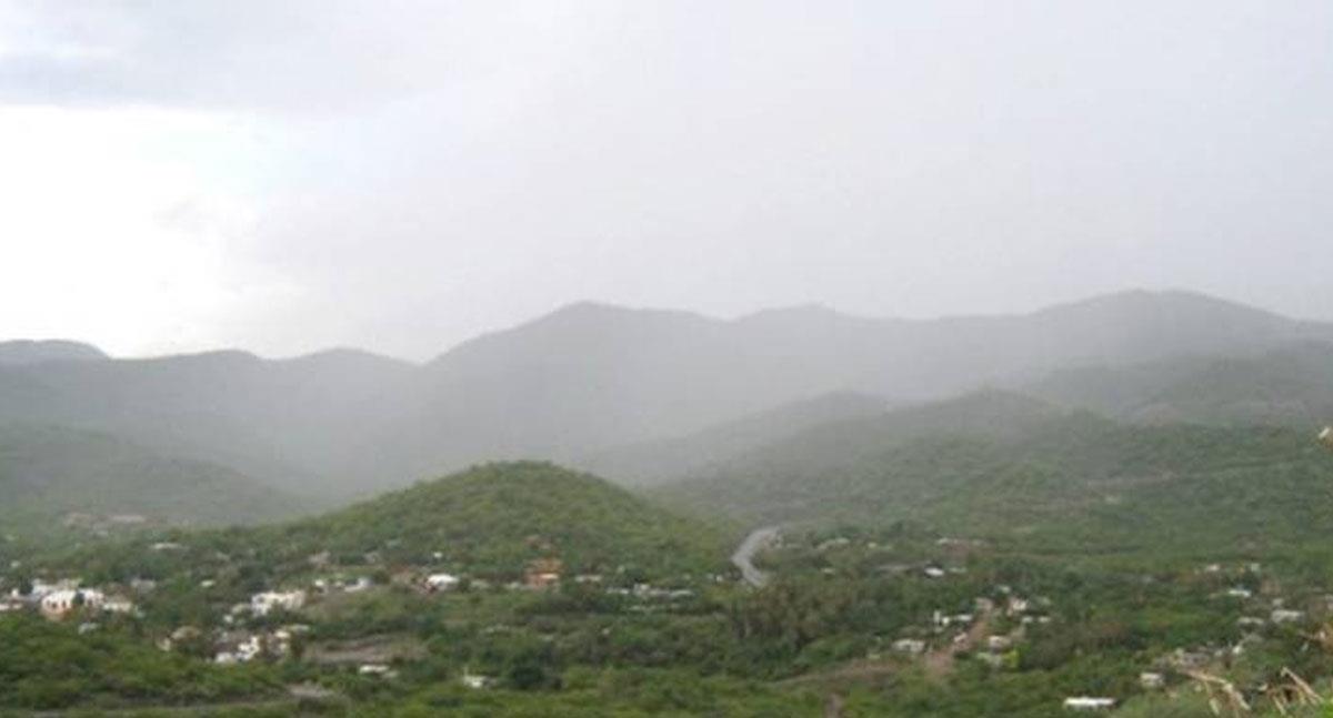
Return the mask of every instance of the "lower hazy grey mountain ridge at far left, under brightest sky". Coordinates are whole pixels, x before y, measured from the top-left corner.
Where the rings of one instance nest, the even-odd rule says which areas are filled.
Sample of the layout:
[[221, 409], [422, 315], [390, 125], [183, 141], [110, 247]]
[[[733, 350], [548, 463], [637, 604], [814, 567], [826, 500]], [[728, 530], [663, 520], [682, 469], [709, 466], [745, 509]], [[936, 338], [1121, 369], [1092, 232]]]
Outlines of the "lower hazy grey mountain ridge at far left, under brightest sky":
[[0, 422], [108, 432], [235, 466], [309, 497], [344, 486], [347, 457], [385, 422], [413, 366], [352, 350], [293, 360], [209, 352], [0, 368]]

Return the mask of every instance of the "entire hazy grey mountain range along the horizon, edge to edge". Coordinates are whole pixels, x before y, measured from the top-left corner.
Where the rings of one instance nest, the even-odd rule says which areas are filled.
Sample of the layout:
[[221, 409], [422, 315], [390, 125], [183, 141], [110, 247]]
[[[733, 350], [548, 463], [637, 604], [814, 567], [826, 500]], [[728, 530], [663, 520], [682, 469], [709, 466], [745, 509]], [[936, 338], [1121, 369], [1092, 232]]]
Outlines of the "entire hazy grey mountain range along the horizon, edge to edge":
[[1330, 341], [1329, 324], [1178, 292], [932, 321], [818, 306], [721, 321], [579, 304], [423, 366], [349, 350], [5, 365], [0, 421], [105, 430], [345, 500], [479, 461], [632, 454], [624, 448], [840, 392], [932, 401], [1076, 368]]

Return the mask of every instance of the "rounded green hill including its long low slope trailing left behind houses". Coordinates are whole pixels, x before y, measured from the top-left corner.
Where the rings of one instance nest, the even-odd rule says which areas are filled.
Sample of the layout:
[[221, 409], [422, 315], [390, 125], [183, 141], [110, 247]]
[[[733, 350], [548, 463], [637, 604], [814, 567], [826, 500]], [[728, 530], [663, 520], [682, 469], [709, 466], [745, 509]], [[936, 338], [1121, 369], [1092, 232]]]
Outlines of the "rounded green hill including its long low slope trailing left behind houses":
[[81, 561], [111, 579], [176, 575], [219, 561], [235, 569], [240, 561], [249, 581], [277, 582], [309, 571], [313, 557], [503, 581], [523, 579], [541, 558], [559, 559], [565, 573], [700, 575], [726, 565], [734, 530], [720, 526], [728, 525], [684, 518], [589, 474], [508, 462], [295, 522], [175, 533], [167, 537], [181, 545], [173, 553], [145, 558], [141, 545], [129, 543]]

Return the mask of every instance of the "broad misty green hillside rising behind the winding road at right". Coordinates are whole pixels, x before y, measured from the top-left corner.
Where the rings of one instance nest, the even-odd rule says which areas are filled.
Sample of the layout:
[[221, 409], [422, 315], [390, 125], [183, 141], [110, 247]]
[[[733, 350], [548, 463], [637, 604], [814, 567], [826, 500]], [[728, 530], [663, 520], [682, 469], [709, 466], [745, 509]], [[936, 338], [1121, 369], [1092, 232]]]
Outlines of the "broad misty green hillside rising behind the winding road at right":
[[[996, 410], [1004, 404], [1018, 409], [1006, 418]], [[1310, 432], [1134, 425], [1085, 412], [1034, 420], [1040, 412], [1013, 397], [978, 405], [989, 413], [972, 428], [905, 437], [877, 420], [817, 429], [660, 496], [749, 525], [912, 521], [1048, 550], [1333, 538], [1333, 456]]]

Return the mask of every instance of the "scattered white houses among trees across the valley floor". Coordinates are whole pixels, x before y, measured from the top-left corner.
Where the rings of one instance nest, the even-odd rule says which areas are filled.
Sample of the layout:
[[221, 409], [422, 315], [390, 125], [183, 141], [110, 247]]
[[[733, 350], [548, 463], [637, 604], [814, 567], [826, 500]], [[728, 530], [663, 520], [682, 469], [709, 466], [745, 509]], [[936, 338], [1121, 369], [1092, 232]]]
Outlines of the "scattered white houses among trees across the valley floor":
[[[1010, 583], [976, 582], [976, 562], [969, 558], [984, 553], [984, 542], [942, 537], [912, 550], [896, 549], [889, 541], [864, 537], [836, 536], [812, 539], [809, 545], [782, 539], [772, 543], [765, 566], [778, 573], [818, 566], [817, 573], [825, 579], [861, 575], [856, 579], [914, 581], [925, 589], [938, 586], [946, 595], [957, 594], [949, 589], [954, 583], [981, 589], [970, 599], [936, 605], [896, 635], [877, 639], [877, 647], [865, 654], [865, 661], [874, 665], [914, 665], [928, 675], [940, 677], [953, 671], [960, 661], [972, 661], [992, 671], [1013, 671], [1030, 639], [1062, 630], [1062, 611], [1054, 598], [1029, 594]], [[188, 546], [171, 541], [149, 546], [149, 551], [167, 555], [187, 550]], [[884, 561], [893, 555], [898, 559]], [[449, 597], [583, 591], [620, 601], [621, 610], [629, 614], [652, 614], [688, 606], [712, 586], [744, 587], [737, 575], [728, 574], [677, 577], [663, 583], [627, 581], [616, 573], [571, 574], [555, 555], [532, 558], [521, 566], [519, 578], [497, 581], [465, 570], [440, 570], [437, 566], [447, 563], [443, 553], [436, 551], [431, 558], [433, 565], [389, 569], [377, 551], [364, 554], [359, 565], [339, 563], [328, 551], [317, 551], [305, 559], [308, 570], [299, 575], [253, 591], [244, 601], [220, 605], [216, 621], [155, 623], [159, 626], [155, 645], [163, 651], [197, 655], [217, 666], [303, 661], [352, 671], [364, 679], [393, 681], [401, 666], [419, 658], [419, 649], [375, 637], [328, 641], [320, 637], [321, 622], [336, 615], [349, 601], [355, 605], [363, 597], [387, 594], [431, 602]], [[225, 573], [196, 575], [195, 589], [212, 595]], [[1216, 675], [1274, 633], [1296, 631], [1309, 635], [1310, 641], [1333, 645], [1333, 631], [1321, 627], [1321, 622], [1333, 615], [1333, 595], [1282, 595], [1257, 562], [1205, 563], [1182, 578], [1212, 586], [1201, 594], [1202, 601], [1238, 613], [1234, 639], [1222, 645], [1178, 646], [1148, 658], [1137, 675], [1141, 691], [1189, 686], [1218, 695], [1241, 695], [1272, 690], [1273, 686], [1232, 686]], [[79, 578], [44, 577], [5, 583], [0, 577], [0, 589], [7, 591], [0, 599], [0, 613], [31, 611], [53, 622], [77, 621], [77, 630], [84, 634], [99, 630], [104, 621], [149, 618], [144, 606], [153, 603], [160, 581], [132, 578], [124, 583], [84, 585]], [[491, 626], [483, 633], [493, 630], [504, 630], [504, 626]], [[461, 670], [456, 679], [469, 689], [492, 687], [499, 681], [493, 674], [471, 667]], [[1070, 694], [1062, 699], [1062, 706], [1069, 711], [1106, 711], [1121, 701], [1121, 695]]]

